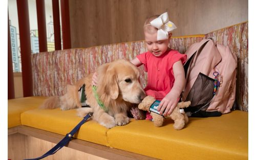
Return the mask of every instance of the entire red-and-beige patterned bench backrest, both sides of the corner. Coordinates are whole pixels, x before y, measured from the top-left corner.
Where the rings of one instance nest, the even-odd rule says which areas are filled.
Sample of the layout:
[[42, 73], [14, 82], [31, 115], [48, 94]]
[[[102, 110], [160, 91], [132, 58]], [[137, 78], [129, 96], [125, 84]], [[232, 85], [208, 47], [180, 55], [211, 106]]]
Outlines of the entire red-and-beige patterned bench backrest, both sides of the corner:
[[[213, 38], [228, 45], [238, 57], [237, 102], [241, 110], [248, 111], [248, 22], [220, 29], [206, 35], [173, 37], [172, 49], [184, 53], [187, 48], [203, 38]], [[116, 59], [132, 60], [145, 52], [144, 41], [100, 45], [86, 49], [43, 52], [32, 55], [34, 96], [60, 96], [67, 84], [95, 72], [97, 66]], [[141, 83], [146, 86], [147, 75], [140, 66]]]

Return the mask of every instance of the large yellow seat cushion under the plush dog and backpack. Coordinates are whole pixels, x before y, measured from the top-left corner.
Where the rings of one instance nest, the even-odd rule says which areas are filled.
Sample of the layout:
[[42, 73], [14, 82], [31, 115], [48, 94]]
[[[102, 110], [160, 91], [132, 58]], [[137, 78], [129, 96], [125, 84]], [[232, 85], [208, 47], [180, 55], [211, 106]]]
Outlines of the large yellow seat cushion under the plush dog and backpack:
[[160, 159], [248, 159], [248, 113], [189, 118], [182, 130], [140, 120], [108, 131], [111, 147]]

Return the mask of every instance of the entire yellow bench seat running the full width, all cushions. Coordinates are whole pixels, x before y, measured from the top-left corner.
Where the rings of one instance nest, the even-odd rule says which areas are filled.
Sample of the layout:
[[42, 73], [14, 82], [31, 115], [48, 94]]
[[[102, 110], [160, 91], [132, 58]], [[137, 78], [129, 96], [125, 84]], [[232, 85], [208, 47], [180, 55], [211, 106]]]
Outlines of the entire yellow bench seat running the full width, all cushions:
[[[17, 104], [24, 106], [16, 114], [8, 114], [8, 124], [20, 118], [22, 125], [66, 135], [82, 120], [75, 109], [39, 109], [44, 99], [8, 100], [9, 110], [16, 110]], [[179, 131], [173, 128], [172, 120], [155, 127], [151, 121], [132, 119], [111, 129], [88, 121], [75, 138], [159, 159], [248, 159], [248, 112], [234, 110], [221, 117], [189, 118], [188, 125]]]

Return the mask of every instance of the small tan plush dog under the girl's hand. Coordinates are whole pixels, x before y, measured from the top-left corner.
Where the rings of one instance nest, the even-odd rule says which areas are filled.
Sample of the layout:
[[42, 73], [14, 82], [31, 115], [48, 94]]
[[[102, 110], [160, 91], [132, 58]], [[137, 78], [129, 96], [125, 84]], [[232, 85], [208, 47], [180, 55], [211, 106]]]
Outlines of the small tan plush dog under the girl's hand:
[[[150, 107], [151, 105], [155, 102], [155, 98], [152, 97], [152, 96], [146, 96], [142, 102], [139, 104], [139, 109], [141, 110], [146, 110], [146, 111], [150, 111]], [[181, 112], [180, 111], [180, 108], [185, 108], [185, 107], [188, 107], [190, 105], [190, 101], [187, 101], [187, 102], [180, 102], [177, 104], [177, 107], [175, 107], [175, 109], [173, 110], [173, 112], [165, 117], [165, 118], [171, 118], [174, 120], [174, 129], [176, 130], [180, 130], [182, 129], [185, 124], [188, 122], [188, 117], [186, 115], [186, 113], [184, 112]], [[163, 124], [163, 121], [164, 121], [164, 117], [162, 115], [159, 115], [158, 113], [155, 113], [153, 111], [150, 111], [151, 113], [151, 116], [153, 117], [153, 122], [154, 122], [154, 125], [156, 127], [160, 127], [162, 126]]]

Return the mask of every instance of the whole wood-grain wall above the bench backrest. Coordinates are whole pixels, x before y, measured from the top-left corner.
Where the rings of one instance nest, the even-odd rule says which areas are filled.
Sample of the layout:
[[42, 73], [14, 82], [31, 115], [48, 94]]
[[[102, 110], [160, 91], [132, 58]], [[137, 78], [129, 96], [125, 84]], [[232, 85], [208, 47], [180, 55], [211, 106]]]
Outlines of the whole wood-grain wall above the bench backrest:
[[146, 17], [168, 12], [173, 36], [205, 34], [248, 20], [247, 0], [69, 1], [72, 48], [144, 39]]

